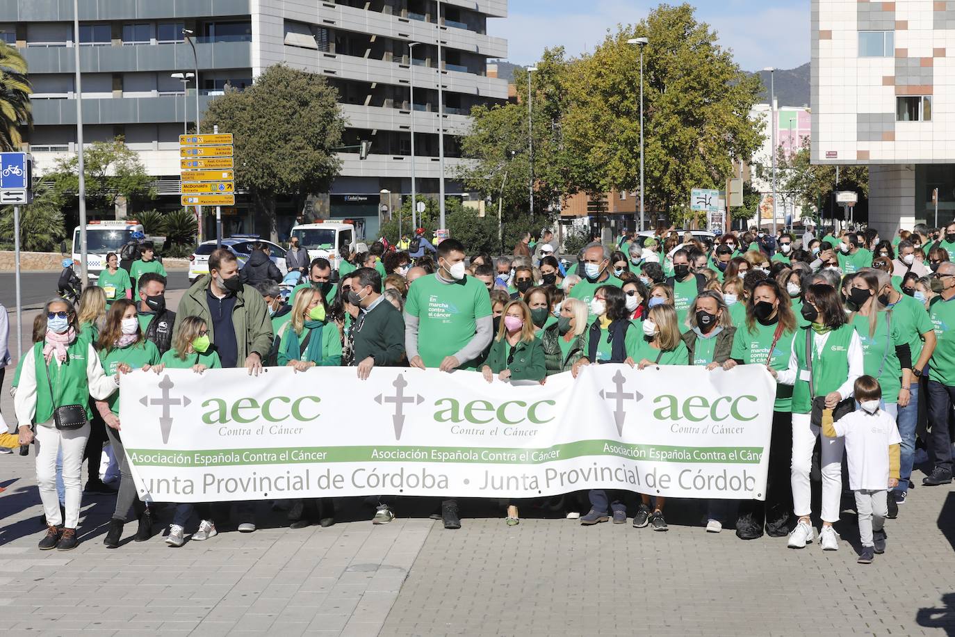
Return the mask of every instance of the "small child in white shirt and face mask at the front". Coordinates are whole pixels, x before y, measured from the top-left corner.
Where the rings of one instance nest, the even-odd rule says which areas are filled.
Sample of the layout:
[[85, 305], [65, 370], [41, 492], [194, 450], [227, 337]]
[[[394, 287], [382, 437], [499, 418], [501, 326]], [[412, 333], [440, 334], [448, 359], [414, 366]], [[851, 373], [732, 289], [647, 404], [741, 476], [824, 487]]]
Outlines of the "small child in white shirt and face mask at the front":
[[832, 413], [823, 414], [822, 433], [845, 437], [849, 465], [849, 488], [856, 494], [859, 514], [859, 563], [872, 563], [875, 553], [885, 552], [882, 524], [888, 515], [888, 489], [899, 484], [899, 428], [895, 418], [879, 408], [882, 390], [879, 381], [862, 375], [855, 384], [856, 402], [861, 409], [843, 415], [835, 423]]

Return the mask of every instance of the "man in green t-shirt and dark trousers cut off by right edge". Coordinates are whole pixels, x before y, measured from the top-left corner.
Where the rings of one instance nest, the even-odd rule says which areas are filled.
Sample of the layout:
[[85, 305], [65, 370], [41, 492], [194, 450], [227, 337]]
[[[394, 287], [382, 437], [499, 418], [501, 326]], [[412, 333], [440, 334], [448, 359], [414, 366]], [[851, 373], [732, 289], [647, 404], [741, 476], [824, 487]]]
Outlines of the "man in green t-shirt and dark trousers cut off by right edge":
[[[945, 228], [948, 231], [948, 228]], [[948, 416], [955, 403], [955, 264], [943, 262], [932, 275], [942, 291], [932, 300], [928, 317], [937, 339], [928, 362], [928, 422], [931, 426], [929, 450], [935, 464], [932, 473], [923, 478], [925, 486], [952, 481], [952, 446], [948, 437]]]

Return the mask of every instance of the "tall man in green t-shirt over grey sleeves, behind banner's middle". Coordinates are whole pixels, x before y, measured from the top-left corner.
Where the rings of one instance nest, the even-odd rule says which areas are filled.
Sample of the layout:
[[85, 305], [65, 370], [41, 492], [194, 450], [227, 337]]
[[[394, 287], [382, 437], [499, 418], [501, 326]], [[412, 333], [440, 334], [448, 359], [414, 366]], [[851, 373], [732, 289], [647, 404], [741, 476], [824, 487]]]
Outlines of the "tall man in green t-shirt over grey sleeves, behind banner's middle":
[[[437, 272], [408, 288], [405, 351], [412, 367], [475, 370], [491, 343], [491, 297], [483, 283], [465, 276], [464, 259], [464, 245], [445, 239], [437, 246]], [[445, 528], [461, 527], [456, 500], [441, 502], [441, 518]]]

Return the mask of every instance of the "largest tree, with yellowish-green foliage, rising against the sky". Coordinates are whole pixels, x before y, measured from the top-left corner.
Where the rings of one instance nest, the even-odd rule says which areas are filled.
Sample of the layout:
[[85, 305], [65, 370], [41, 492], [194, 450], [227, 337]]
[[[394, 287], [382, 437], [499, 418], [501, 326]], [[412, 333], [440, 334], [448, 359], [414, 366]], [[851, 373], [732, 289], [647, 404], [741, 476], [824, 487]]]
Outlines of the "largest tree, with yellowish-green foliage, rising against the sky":
[[697, 22], [689, 4], [661, 5], [636, 26], [608, 33], [594, 53], [567, 67], [570, 107], [563, 140], [579, 160], [572, 181], [587, 192], [633, 191], [640, 183], [640, 50], [644, 50], [648, 209], [689, 207], [693, 187], [721, 187], [732, 159], [750, 159], [762, 141], [749, 112], [760, 83]]

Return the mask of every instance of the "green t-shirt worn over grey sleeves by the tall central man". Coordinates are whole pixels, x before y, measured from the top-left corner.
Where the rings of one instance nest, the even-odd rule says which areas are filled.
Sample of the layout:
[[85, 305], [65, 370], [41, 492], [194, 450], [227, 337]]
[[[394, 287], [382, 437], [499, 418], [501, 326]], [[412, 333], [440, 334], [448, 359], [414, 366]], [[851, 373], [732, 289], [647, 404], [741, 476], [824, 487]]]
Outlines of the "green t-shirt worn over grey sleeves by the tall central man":
[[[405, 313], [418, 319], [418, 354], [425, 367], [439, 367], [445, 356], [454, 355], [474, 338], [477, 319], [491, 315], [491, 296], [474, 277], [448, 284], [429, 274], [408, 288]], [[477, 361], [460, 363], [463, 370], [477, 365]]]

